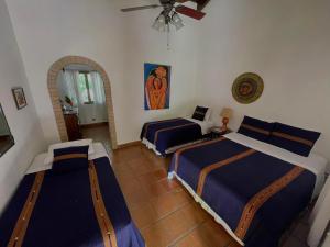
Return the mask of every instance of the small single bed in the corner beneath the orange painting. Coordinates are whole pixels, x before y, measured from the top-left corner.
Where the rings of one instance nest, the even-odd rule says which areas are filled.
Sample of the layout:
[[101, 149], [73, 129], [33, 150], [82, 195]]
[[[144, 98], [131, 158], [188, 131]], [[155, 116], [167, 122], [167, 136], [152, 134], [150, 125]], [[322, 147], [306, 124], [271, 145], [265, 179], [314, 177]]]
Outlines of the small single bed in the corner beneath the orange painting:
[[212, 121], [193, 117], [155, 121], [143, 125], [140, 138], [157, 155], [166, 156], [183, 146], [200, 142], [212, 126]]

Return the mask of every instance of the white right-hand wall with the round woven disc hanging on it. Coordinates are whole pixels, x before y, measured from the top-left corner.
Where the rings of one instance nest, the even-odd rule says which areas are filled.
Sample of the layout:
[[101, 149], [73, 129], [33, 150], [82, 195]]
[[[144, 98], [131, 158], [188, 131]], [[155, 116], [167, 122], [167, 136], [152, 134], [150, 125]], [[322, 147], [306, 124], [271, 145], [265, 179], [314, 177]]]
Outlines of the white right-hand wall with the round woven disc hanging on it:
[[[316, 150], [330, 160], [330, 1], [217, 0], [199, 29], [197, 102], [220, 122], [231, 106], [244, 114], [322, 132]], [[243, 105], [231, 87], [246, 71], [265, 82], [262, 98]], [[220, 123], [219, 123], [220, 124]]]

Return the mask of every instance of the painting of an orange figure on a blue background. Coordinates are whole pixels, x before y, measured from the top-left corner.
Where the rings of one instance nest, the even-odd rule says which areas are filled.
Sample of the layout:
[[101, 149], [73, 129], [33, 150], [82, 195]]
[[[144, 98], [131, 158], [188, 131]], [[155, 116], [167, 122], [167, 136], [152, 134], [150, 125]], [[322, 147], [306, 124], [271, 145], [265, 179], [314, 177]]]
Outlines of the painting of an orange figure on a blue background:
[[169, 109], [170, 66], [144, 64], [144, 109]]

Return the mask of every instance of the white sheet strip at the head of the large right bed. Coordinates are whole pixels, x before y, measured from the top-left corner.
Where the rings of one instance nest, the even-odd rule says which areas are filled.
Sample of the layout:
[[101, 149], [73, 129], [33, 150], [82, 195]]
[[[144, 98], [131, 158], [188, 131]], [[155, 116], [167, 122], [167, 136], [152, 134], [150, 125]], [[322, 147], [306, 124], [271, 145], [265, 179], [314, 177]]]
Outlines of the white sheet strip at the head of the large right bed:
[[315, 154], [315, 153], [310, 153], [309, 157], [304, 157], [300, 155], [296, 155], [292, 151], [288, 151], [286, 149], [276, 147], [274, 145], [254, 139], [254, 138], [250, 138], [245, 135], [239, 134], [239, 133], [230, 133], [224, 135], [224, 137], [242, 144], [244, 146], [248, 146], [250, 148], [253, 148], [255, 150], [262, 151], [264, 154], [267, 154], [270, 156], [279, 158], [282, 160], [285, 160], [287, 162], [300, 166], [305, 169], [310, 170], [311, 172], [314, 172], [317, 176], [317, 181], [316, 181], [316, 187], [315, 187], [315, 191], [314, 191], [314, 198], [317, 197], [323, 184], [324, 184], [324, 180], [326, 180], [326, 170], [327, 170], [327, 165], [328, 165], [328, 160], [326, 158], [323, 158], [322, 156]]

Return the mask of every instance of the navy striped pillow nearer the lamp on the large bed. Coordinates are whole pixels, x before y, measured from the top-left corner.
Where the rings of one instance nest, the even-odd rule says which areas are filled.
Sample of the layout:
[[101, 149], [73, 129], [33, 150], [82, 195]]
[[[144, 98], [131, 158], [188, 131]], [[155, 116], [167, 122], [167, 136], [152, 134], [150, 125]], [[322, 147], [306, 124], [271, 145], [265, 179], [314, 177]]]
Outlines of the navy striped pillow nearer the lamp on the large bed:
[[270, 138], [273, 128], [274, 123], [244, 116], [244, 120], [238, 132], [251, 138], [265, 142]]

